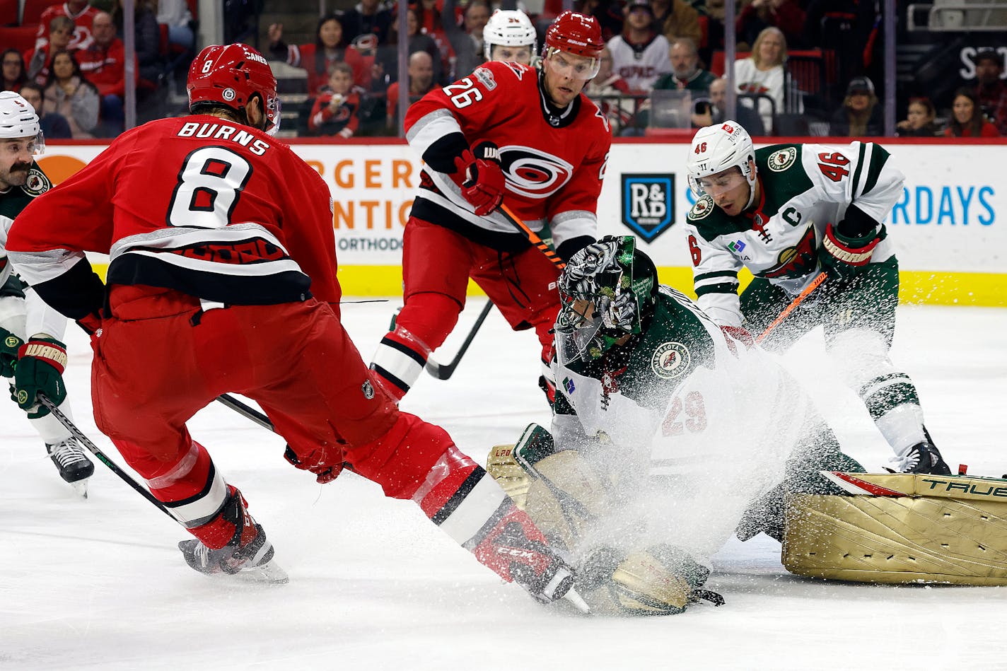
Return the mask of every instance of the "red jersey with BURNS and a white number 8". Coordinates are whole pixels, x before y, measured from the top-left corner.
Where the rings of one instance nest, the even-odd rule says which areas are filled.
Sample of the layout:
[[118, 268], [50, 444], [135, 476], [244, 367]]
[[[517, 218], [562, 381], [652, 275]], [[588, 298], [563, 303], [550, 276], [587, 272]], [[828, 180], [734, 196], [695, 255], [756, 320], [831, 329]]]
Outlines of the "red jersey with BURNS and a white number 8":
[[120, 135], [25, 208], [8, 251], [39, 295], [77, 319], [104, 293], [84, 252], [110, 255], [109, 284], [237, 305], [340, 295], [325, 182], [288, 146], [209, 115]]

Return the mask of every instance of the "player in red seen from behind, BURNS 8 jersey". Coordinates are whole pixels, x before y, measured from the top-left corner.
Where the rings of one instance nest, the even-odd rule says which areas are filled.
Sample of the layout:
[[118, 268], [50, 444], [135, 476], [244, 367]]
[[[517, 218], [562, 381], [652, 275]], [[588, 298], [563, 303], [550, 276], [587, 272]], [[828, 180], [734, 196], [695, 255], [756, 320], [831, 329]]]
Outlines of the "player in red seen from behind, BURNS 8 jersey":
[[[95, 420], [195, 536], [179, 544], [186, 562], [286, 577], [185, 427], [232, 391], [259, 402], [288, 459], [319, 482], [346, 463], [505, 579], [543, 601], [564, 595], [571, 571], [528, 516], [443, 429], [372, 385], [339, 321], [328, 187], [264, 132], [279, 122], [265, 58], [207, 46], [188, 92], [190, 116], [120, 135], [8, 238], [18, 272], [92, 333]], [[107, 284], [86, 251], [110, 255]]]

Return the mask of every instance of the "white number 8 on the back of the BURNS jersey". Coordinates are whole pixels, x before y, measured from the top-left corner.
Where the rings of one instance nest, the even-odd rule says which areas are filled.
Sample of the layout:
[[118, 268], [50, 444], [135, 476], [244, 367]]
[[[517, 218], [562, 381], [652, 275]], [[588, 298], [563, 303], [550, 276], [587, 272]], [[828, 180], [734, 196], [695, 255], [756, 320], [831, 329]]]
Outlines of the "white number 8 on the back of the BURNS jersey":
[[171, 194], [168, 224], [220, 229], [231, 223], [252, 165], [225, 147], [202, 147], [185, 158]]

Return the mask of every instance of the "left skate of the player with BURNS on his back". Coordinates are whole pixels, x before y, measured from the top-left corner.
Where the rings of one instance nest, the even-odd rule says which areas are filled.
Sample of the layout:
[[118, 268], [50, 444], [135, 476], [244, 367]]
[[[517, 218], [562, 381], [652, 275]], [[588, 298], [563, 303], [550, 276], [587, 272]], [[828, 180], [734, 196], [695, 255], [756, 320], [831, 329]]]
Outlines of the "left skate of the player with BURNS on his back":
[[212, 549], [196, 539], [180, 541], [185, 563], [206, 575], [241, 572], [246, 577], [282, 583], [289, 581], [286, 571], [273, 561], [273, 544], [266, 538], [262, 525], [257, 524], [245, 509], [241, 492], [234, 490], [221, 513], [225, 520], [235, 524], [235, 535], [227, 545]]

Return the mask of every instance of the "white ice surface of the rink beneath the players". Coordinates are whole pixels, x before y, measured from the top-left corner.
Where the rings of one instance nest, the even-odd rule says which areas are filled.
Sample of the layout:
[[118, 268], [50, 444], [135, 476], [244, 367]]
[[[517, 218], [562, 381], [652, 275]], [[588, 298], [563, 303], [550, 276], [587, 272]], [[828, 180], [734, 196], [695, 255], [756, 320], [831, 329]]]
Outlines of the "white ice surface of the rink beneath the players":
[[[473, 301], [474, 303], [474, 301]], [[396, 303], [344, 305], [365, 359]], [[479, 305], [436, 353], [448, 361]], [[1007, 310], [902, 307], [896, 366], [916, 382], [952, 467], [1007, 473]], [[846, 450], [890, 455], [813, 334], [787, 356]], [[68, 336], [67, 387], [95, 428], [90, 350]], [[447, 382], [424, 376], [403, 408], [445, 426], [484, 462], [548, 412], [539, 347], [493, 311]], [[781, 412], [785, 412], [781, 409]], [[284, 586], [199, 575], [184, 532], [96, 464], [83, 501], [56, 476], [16, 406], [0, 403], [0, 669], [849, 669], [1007, 668], [1007, 588], [881, 586], [790, 575], [765, 536], [714, 557], [727, 605], [655, 619], [584, 618], [502, 583], [410, 503], [351, 474], [324, 487], [283, 459], [283, 441], [221, 404], [190, 423], [276, 546]]]

